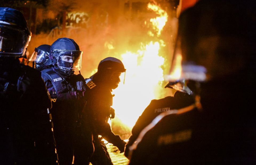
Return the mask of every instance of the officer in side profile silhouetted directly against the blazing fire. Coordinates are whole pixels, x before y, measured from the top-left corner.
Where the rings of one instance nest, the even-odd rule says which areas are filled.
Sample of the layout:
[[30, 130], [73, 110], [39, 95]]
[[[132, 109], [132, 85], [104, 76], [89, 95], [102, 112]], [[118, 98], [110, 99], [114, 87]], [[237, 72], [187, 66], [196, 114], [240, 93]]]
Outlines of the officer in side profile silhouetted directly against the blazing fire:
[[[89, 126], [93, 134], [95, 151], [89, 162], [94, 165], [113, 164], [106, 146], [103, 141], [101, 141], [102, 138], [98, 138], [98, 135], [101, 135], [108, 142], [117, 146], [120, 153], [124, 152], [126, 142], [123, 141], [119, 135], [115, 135], [112, 132], [111, 126], [107, 121], [109, 118], [114, 118], [114, 109], [111, 108], [113, 101], [113, 95], [111, 94], [112, 89], [118, 87], [120, 82], [119, 77], [125, 70], [120, 60], [114, 57], [107, 57], [99, 63], [97, 73], [85, 79], [87, 104], [85, 113], [83, 114], [82, 124], [87, 127]], [[85, 141], [91, 143], [92, 139], [88, 138], [85, 139]], [[80, 145], [80, 147], [82, 146]], [[82, 148], [80, 150], [82, 150]], [[84, 152], [88, 154], [87, 151]], [[83, 152], [80, 152], [80, 154], [83, 154]], [[76, 157], [75, 155], [74, 163], [77, 164], [77, 162], [79, 162], [78, 164], [82, 164], [81, 162], [85, 161], [79, 159], [82, 156], [83, 155]], [[78, 158], [78, 160], [76, 158]], [[89, 162], [86, 163], [89, 164]]]

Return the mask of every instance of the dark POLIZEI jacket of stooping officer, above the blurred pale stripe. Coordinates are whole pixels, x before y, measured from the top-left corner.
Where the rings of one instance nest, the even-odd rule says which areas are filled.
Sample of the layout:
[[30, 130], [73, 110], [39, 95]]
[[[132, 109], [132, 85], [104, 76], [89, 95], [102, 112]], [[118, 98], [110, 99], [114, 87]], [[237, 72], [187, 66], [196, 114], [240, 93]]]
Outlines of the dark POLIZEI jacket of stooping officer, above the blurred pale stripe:
[[150, 104], [143, 111], [136, 124], [131, 130], [131, 136], [125, 147], [125, 156], [129, 158], [129, 147], [138, 138], [139, 133], [149, 125], [155, 117], [157, 117], [162, 112], [168, 112], [173, 109], [179, 109], [192, 104], [194, 101], [191, 95], [183, 92], [175, 92], [174, 97], [167, 96], [159, 100], [151, 100]]

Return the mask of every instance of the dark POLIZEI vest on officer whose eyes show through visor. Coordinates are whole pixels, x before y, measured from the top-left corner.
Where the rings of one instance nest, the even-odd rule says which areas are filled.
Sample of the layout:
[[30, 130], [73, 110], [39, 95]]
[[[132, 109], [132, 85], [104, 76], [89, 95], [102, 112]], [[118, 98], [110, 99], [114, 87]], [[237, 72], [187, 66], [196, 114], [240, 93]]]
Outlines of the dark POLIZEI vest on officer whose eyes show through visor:
[[85, 87], [83, 85], [83, 79], [80, 79], [78, 75], [74, 76], [75, 85], [72, 86], [51, 68], [42, 70], [41, 73], [42, 77], [46, 77], [53, 84], [52, 88], [47, 89], [53, 102], [79, 99], [84, 96]]

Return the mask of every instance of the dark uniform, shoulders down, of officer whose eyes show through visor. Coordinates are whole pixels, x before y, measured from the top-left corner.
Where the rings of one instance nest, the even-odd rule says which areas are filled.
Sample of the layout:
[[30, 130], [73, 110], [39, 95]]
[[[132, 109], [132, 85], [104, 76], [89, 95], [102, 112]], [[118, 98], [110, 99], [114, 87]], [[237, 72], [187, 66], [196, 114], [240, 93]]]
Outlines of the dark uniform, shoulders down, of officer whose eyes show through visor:
[[75, 126], [78, 114], [84, 107], [83, 77], [81, 74], [71, 78], [63, 77], [55, 67], [42, 70], [42, 78], [50, 93], [59, 164], [71, 164], [74, 152]]

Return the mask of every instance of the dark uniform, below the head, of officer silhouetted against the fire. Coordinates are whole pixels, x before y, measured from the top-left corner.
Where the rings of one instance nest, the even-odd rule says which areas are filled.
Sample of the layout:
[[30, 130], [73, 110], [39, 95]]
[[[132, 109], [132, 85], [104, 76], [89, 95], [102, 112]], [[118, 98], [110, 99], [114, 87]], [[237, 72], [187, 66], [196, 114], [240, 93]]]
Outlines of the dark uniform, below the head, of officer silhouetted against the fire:
[[104, 84], [106, 82], [102, 82], [100, 77], [97, 76], [96, 73], [89, 79], [85, 79], [87, 104], [84, 117], [93, 133], [95, 146], [91, 163], [113, 164], [105, 145], [101, 142], [101, 139], [98, 139], [98, 135], [101, 135], [104, 139], [117, 147], [123, 145], [124, 142], [119, 135], [115, 135], [112, 132], [110, 125], [107, 123], [113, 101], [112, 90]]

